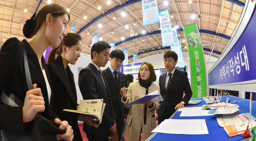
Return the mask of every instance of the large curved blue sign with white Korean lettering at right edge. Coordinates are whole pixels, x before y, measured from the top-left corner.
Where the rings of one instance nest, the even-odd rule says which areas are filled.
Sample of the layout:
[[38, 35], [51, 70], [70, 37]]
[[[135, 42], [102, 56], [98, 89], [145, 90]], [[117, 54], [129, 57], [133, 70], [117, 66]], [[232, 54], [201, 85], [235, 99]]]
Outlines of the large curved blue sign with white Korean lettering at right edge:
[[254, 9], [251, 20], [240, 38], [222, 61], [210, 72], [209, 85], [256, 79], [255, 23], [256, 12]]

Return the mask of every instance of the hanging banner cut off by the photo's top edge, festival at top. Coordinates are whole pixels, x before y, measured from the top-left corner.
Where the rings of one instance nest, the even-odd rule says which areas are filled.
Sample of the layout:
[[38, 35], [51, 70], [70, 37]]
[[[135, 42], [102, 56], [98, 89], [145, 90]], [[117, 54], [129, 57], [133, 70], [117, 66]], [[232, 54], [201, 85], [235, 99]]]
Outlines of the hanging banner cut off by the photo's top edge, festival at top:
[[157, 0], [142, 0], [143, 26], [159, 23]]

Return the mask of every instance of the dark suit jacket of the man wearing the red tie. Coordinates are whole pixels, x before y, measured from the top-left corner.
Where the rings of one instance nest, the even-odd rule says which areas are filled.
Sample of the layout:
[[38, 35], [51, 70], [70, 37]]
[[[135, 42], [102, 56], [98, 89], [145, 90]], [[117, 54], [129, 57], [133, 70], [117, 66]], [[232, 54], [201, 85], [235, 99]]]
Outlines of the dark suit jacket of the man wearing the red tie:
[[78, 84], [83, 99], [103, 99], [103, 103], [106, 103], [101, 124], [97, 129], [89, 126], [88, 128], [91, 129], [91, 132], [87, 130], [87, 134], [106, 133], [108, 129], [114, 125], [114, 119], [117, 119], [114, 113], [108, 84], [106, 83], [105, 77], [103, 75], [102, 77], [106, 87], [97, 68], [91, 63], [79, 73]]

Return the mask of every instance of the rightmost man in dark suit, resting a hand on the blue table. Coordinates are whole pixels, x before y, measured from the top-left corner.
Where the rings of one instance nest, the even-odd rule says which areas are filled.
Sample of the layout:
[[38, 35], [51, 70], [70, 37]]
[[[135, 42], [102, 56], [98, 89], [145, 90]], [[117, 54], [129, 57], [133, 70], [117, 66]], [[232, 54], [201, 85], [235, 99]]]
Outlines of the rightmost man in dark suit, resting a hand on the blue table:
[[[177, 109], [187, 105], [192, 96], [188, 73], [175, 68], [178, 61], [177, 54], [167, 51], [163, 58], [167, 72], [159, 77], [160, 94], [163, 101], [157, 112], [158, 125], [170, 118]], [[184, 91], [186, 95], [183, 98]]]

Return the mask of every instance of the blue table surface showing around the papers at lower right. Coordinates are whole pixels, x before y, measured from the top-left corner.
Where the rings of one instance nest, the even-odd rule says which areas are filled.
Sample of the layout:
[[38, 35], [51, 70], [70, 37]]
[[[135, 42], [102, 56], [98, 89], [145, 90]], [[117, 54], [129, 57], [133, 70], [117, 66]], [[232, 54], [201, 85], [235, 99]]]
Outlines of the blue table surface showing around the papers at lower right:
[[[222, 101], [226, 102], [227, 96], [222, 96]], [[202, 100], [202, 102], [197, 105], [188, 105], [186, 107], [195, 107], [195, 106], [203, 106], [206, 102], [203, 98], [192, 98], [191, 100]], [[237, 100], [232, 104], [238, 104], [240, 114], [249, 113], [249, 100], [238, 98], [236, 96], [229, 96], [230, 101]], [[234, 137], [229, 137], [223, 127], [218, 125], [217, 119], [215, 115], [210, 116], [198, 116], [198, 117], [180, 117], [181, 111], [176, 111], [170, 117], [170, 119], [205, 119], [206, 125], [209, 134], [199, 134], [199, 135], [188, 135], [188, 134], [166, 134], [166, 133], [155, 133], [151, 137], [147, 139], [147, 141], [240, 141], [246, 140], [247, 138], [242, 137], [241, 135], [237, 135]], [[256, 102], [252, 103], [252, 115], [256, 117]]]

